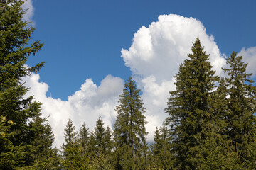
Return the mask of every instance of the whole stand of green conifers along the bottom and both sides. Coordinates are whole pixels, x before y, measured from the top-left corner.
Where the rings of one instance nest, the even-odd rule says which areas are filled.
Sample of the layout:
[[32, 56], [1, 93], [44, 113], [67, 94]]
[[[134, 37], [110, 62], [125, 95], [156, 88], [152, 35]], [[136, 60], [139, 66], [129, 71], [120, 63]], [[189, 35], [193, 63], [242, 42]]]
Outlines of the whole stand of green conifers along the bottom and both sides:
[[0, 0], [0, 169], [256, 169], [252, 74], [233, 52], [225, 77], [216, 76], [199, 38], [176, 73], [168, 117], [156, 128], [154, 143], [146, 143], [146, 108], [129, 77], [113, 127], [99, 116], [95, 128], [83, 123], [77, 132], [69, 119], [61, 150], [53, 148], [42, 103], [25, 98], [21, 83], [44, 64], [26, 66], [43, 44], [31, 39], [35, 29], [22, 20], [23, 3]]

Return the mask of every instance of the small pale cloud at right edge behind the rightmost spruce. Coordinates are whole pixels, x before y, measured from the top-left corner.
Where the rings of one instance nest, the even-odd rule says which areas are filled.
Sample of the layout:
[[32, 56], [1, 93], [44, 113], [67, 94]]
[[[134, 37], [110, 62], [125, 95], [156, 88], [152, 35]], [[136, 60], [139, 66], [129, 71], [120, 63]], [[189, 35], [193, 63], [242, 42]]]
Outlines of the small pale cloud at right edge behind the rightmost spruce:
[[243, 47], [242, 50], [238, 53], [238, 55], [242, 55], [242, 60], [247, 63], [247, 73], [252, 73], [252, 77], [256, 75], [256, 47]]

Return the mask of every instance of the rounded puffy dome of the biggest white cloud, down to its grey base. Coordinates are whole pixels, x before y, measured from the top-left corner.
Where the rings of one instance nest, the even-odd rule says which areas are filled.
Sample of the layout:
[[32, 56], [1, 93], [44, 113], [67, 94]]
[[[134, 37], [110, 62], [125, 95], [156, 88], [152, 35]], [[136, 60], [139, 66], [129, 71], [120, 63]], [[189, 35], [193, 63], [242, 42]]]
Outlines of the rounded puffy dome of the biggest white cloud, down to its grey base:
[[134, 74], [154, 75], [158, 82], [171, 79], [191, 53], [192, 43], [197, 37], [219, 74], [225, 60], [213, 36], [206, 33], [206, 28], [197, 19], [174, 14], [159, 16], [159, 21], [151, 23], [148, 28], [142, 26], [134, 34], [129, 50], [122, 50], [122, 58]]

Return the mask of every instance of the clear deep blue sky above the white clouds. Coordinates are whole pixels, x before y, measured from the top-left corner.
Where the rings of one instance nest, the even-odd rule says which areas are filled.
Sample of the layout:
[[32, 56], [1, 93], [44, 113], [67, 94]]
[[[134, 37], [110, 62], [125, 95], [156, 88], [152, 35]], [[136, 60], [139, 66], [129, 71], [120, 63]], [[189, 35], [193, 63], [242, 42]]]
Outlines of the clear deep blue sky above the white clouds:
[[45, 47], [28, 64], [45, 61], [41, 81], [48, 95], [66, 100], [85, 79], [96, 84], [107, 74], [127, 79], [131, 72], [120, 57], [134, 33], [161, 14], [200, 20], [220, 52], [256, 45], [256, 1], [33, 1], [34, 40]]

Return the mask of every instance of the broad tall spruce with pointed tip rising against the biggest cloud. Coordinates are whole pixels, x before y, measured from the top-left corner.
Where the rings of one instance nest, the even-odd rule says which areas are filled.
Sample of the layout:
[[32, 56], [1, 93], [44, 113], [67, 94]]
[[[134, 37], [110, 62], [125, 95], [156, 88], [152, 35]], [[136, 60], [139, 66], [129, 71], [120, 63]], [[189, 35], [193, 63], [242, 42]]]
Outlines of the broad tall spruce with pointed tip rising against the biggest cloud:
[[[210, 65], [209, 55], [203, 51], [199, 38], [193, 43], [192, 53], [179, 67], [176, 90], [170, 92], [167, 123], [171, 131], [171, 151], [174, 169], [202, 169], [208, 162], [207, 142], [212, 136], [222, 137], [215, 131], [218, 115], [214, 113], [213, 88], [218, 81]], [[215, 164], [210, 162], [208, 164]]]

